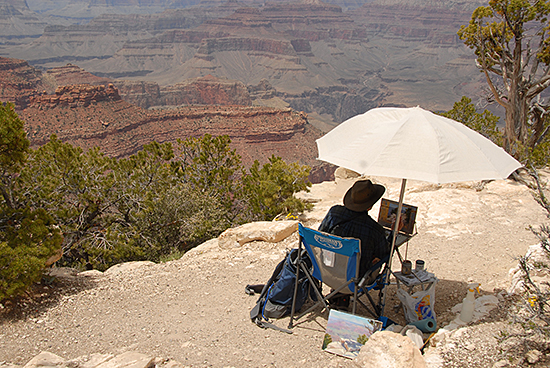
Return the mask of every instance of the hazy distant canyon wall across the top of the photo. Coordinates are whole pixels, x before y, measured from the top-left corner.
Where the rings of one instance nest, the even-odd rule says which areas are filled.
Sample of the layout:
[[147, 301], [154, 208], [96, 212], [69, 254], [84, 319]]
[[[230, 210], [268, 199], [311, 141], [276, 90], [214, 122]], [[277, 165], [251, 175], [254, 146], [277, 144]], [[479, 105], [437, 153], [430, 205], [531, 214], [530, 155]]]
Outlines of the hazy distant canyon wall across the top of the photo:
[[[249, 91], [265, 81], [270, 97], [252, 94], [252, 104], [303, 110], [324, 130], [377, 106], [448, 110], [464, 95], [483, 95], [474, 55], [456, 35], [481, 0], [205, 0], [156, 14], [114, 11], [187, 4], [168, 3], [73, 0], [111, 11], [87, 24], [52, 25], [27, 46], [4, 45], [4, 54], [132, 81], [130, 90], [145, 91], [132, 100], [141, 106], [163, 103], [162, 88], [207, 75]], [[168, 100], [185, 103], [180, 89]]]

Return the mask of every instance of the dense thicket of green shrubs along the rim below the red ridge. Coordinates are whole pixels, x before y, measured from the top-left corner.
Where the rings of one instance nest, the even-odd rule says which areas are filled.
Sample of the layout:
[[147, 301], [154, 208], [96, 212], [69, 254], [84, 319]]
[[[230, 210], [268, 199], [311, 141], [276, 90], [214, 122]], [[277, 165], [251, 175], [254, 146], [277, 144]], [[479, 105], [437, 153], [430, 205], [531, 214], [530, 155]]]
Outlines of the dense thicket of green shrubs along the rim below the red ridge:
[[61, 229], [61, 266], [105, 270], [159, 262], [229, 227], [306, 208], [294, 193], [309, 168], [273, 156], [249, 175], [227, 136], [152, 142], [125, 159], [84, 151], [56, 136], [28, 153], [9, 188], [17, 208], [43, 209]]

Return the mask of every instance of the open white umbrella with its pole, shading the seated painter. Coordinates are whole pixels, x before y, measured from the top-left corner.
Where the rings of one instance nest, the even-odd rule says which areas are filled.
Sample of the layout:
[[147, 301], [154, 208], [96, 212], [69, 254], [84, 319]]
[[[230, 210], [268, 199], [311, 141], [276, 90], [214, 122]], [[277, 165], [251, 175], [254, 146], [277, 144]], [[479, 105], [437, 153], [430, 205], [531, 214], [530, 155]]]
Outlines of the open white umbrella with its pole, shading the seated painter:
[[[506, 179], [522, 165], [481, 134], [420, 107], [382, 107], [354, 116], [317, 140], [319, 160], [359, 174], [431, 183]], [[391, 244], [389, 267], [395, 248]]]

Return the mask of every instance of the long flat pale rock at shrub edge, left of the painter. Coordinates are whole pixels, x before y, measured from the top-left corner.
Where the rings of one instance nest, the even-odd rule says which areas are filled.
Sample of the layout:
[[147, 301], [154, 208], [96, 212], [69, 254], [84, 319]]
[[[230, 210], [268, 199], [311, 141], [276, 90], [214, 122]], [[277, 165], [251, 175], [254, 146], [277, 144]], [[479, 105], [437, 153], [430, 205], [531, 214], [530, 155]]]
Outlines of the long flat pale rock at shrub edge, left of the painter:
[[222, 249], [240, 247], [254, 240], [278, 243], [298, 229], [298, 221], [257, 221], [231, 228], [219, 237]]

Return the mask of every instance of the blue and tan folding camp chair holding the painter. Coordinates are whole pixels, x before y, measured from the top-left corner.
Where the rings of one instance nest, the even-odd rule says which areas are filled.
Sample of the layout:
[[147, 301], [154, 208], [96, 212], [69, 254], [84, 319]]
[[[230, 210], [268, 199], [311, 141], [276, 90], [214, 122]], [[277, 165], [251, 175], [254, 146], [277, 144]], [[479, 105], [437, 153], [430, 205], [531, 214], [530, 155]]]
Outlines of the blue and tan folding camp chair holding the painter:
[[[380, 301], [375, 303], [368, 291], [373, 288], [383, 289], [385, 287], [383, 280], [385, 272], [380, 273], [380, 268], [387, 262], [388, 258], [373, 265], [365, 275], [360, 277], [361, 241], [359, 239], [339, 237], [307, 228], [302, 224], [298, 226], [298, 233], [300, 241], [296, 263], [299, 267], [296, 267], [296, 270], [302, 269], [306, 274], [317, 300], [297, 317], [295, 317], [296, 311], [293, 302], [289, 328], [293, 327], [295, 320], [299, 320], [314, 309], [320, 306], [328, 308], [329, 300], [338, 293], [353, 295], [351, 304], [353, 314], [355, 314], [357, 302], [359, 302], [369, 312], [379, 317], [383, 311], [383, 306], [380, 305], [382, 298], [379, 298]], [[311, 264], [305, 261], [306, 253]], [[298, 280], [298, 277], [296, 280]], [[333, 290], [328, 295], [323, 296], [322, 284]], [[297, 293], [297, 290], [298, 283], [295, 284], [294, 292]], [[359, 300], [359, 297], [363, 294], [368, 296], [374, 307], [374, 312]]]

